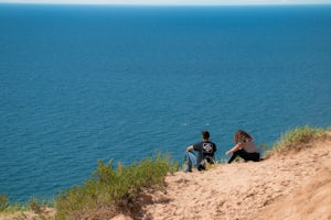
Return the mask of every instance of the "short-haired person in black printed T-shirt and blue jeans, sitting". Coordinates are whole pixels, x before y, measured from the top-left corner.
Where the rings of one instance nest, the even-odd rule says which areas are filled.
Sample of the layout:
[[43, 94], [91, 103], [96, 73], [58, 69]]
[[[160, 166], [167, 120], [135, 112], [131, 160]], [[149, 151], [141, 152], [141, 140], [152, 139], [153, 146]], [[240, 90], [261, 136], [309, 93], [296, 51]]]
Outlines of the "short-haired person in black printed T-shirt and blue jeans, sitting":
[[[197, 157], [192, 151], [197, 152]], [[214, 153], [216, 152], [216, 144], [210, 141], [210, 132], [202, 131], [202, 142], [188, 146], [184, 161], [188, 164], [186, 172], [192, 172], [192, 166], [197, 170], [205, 169], [206, 163], [214, 163]]]

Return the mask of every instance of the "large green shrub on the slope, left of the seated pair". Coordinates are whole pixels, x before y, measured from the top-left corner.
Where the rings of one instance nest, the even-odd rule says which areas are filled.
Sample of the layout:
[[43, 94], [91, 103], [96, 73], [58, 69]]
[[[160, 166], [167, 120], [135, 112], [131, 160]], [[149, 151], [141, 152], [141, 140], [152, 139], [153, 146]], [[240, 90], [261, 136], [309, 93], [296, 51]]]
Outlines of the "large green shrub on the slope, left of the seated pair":
[[[116, 169], [113, 161], [98, 161], [93, 176], [83, 186], [74, 186], [55, 199], [56, 218], [79, 219], [100, 207], [108, 207], [113, 212], [120, 207], [129, 207], [143, 188], [162, 186], [167, 173], [175, 170], [177, 165], [161, 154], [127, 167], [119, 163]], [[111, 218], [111, 215], [116, 213], [109, 213], [107, 218]]]

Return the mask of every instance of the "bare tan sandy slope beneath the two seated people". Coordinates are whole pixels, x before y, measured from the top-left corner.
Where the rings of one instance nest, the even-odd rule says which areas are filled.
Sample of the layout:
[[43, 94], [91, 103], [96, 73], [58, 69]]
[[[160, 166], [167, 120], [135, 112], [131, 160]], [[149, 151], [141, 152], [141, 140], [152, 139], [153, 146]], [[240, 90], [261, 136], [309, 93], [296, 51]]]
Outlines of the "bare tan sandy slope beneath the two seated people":
[[[259, 163], [166, 178], [143, 219], [331, 220], [331, 141]], [[122, 216], [119, 219], [125, 219]]]

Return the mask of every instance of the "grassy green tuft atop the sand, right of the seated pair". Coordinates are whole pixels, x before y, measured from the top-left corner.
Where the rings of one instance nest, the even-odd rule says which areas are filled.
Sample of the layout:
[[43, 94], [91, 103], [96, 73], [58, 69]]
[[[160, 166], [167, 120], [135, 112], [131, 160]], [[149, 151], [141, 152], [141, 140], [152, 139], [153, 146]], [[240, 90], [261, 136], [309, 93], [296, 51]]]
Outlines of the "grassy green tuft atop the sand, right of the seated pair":
[[310, 147], [313, 141], [325, 140], [330, 138], [328, 129], [317, 129], [312, 127], [298, 127], [280, 136], [274, 146], [265, 154], [268, 158], [273, 155], [287, 155], [291, 152], [299, 152], [303, 148]]

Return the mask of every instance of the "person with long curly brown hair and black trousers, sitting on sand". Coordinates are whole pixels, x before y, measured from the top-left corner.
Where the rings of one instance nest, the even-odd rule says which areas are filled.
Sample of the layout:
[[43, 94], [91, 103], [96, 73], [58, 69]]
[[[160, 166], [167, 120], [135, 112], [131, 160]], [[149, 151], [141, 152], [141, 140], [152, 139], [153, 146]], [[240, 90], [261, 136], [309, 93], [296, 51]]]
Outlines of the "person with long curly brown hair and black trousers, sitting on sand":
[[237, 156], [241, 156], [245, 161], [259, 161], [258, 148], [255, 146], [253, 138], [245, 131], [238, 130], [234, 136], [235, 146], [227, 151], [225, 154], [232, 153], [232, 157], [228, 160], [228, 164], [233, 162]]

